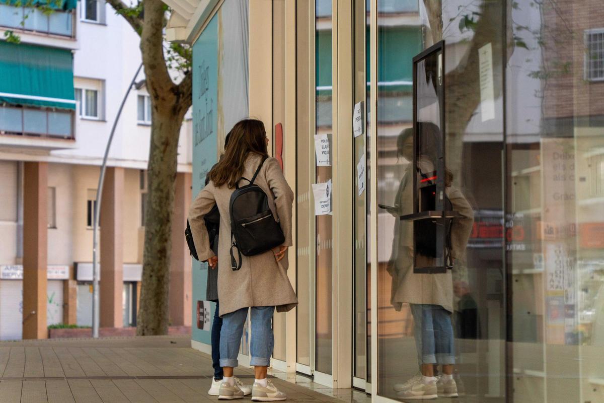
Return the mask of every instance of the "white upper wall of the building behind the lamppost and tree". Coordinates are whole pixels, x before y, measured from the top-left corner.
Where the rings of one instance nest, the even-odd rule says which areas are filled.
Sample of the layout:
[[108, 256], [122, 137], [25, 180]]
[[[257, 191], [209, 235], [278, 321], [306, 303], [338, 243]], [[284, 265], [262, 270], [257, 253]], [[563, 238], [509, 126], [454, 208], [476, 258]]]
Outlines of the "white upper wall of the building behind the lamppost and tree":
[[[56, 150], [53, 156], [89, 161], [100, 164], [103, 158], [112, 124], [120, 108], [133, 75], [140, 66], [140, 37], [123, 17], [116, 15], [111, 6], [105, 7], [106, 24], [95, 24], [77, 18], [77, 51], [74, 52], [74, 82], [76, 87], [88, 79], [103, 83], [103, 111], [101, 120], [76, 117], [76, 149]], [[80, 14], [78, 5], [77, 16]], [[137, 82], [144, 80], [144, 73]], [[114, 140], [109, 153], [109, 165], [144, 168], [149, 157], [150, 126], [137, 123], [137, 97], [148, 95], [146, 88], [132, 88], [121, 112]], [[188, 123], [190, 124], [190, 122]], [[182, 130], [179, 141], [179, 170], [190, 170], [182, 164], [190, 164], [187, 129]]]

